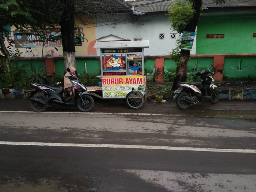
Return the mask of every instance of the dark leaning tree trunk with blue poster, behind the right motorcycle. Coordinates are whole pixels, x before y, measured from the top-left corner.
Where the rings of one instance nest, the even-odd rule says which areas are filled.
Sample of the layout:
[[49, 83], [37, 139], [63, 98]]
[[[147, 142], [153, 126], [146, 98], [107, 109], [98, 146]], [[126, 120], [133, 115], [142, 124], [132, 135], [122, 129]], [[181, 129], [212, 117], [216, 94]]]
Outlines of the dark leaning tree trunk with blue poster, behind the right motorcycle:
[[[194, 8], [195, 12], [193, 18], [191, 18], [188, 25], [184, 28], [184, 31], [195, 32], [196, 26], [199, 20], [199, 16], [201, 13], [202, 7], [202, 0], [194, 0], [192, 7]], [[180, 63], [176, 67], [176, 76], [174, 78], [172, 84], [172, 90], [177, 89], [177, 81], [186, 81], [187, 74], [188, 74], [188, 60], [190, 57], [190, 50], [181, 50], [180, 51]]]

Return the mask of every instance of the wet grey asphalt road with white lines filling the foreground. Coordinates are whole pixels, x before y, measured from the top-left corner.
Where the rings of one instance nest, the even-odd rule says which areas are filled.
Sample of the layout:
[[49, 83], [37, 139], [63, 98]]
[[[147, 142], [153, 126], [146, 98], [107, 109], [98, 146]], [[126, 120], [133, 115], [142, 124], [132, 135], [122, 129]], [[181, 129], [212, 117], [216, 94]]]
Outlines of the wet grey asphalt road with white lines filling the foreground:
[[0, 103], [0, 191], [256, 190], [254, 101], [99, 101], [90, 113]]

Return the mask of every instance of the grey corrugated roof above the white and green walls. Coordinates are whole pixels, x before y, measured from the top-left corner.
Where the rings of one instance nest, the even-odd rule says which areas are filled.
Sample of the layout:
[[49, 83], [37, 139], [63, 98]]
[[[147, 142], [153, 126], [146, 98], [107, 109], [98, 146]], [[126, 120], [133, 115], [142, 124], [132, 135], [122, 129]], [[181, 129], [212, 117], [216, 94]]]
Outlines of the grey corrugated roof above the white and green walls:
[[[126, 4], [134, 7], [134, 10], [147, 13], [147, 12], [166, 12], [172, 8], [178, 0], [128, 0]], [[256, 6], [256, 0], [226, 0], [223, 5], [216, 4], [213, 0], [202, 0], [203, 8], [218, 8], [218, 7], [248, 7]]]

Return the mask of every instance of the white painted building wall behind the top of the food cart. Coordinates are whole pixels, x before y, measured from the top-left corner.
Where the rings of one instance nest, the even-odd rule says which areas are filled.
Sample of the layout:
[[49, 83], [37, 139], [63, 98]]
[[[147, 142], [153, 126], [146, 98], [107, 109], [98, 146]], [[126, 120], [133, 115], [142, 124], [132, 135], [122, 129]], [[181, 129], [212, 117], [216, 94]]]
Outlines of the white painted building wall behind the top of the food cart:
[[[124, 15], [118, 15], [122, 17]], [[138, 17], [138, 16], [135, 16]], [[168, 16], [139, 16], [140, 19], [134, 20], [130, 18], [130, 22], [120, 22], [117, 24], [102, 25], [96, 24], [96, 39], [107, 36], [110, 34], [134, 40], [134, 38], [142, 38], [142, 40], [149, 40], [149, 48], [144, 49], [145, 56], [168, 56], [173, 48], [176, 47], [176, 40], [171, 39], [170, 34], [175, 33], [170, 27]], [[99, 21], [99, 20], [98, 20]], [[97, 26], [98, 25], [98, 26]], [[102, 26], [100, 26], [102, 25]], [[159, 39], [159, 34], [164, 34], [164, 39]], [[176, 38], [178, 34], [176, 34]], [[194, 40], [193, 48], [196, 47], [196, 37]], [[195, 54], [193, 49], [191, 54]], [[97, 56], [100, 55], [97, 50]]]

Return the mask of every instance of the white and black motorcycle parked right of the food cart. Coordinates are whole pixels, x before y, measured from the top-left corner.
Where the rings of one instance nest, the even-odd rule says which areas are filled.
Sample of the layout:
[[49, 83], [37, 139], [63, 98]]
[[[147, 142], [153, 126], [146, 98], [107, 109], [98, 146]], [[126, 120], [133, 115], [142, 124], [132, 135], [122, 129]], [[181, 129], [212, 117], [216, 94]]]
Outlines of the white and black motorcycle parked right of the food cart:
[[210, 101], [212, 103], [219, 101], [219, 91], [214, 84], [210, 68], [212, 68], [212, 65], [208, 70], [202, 70], [192, 75], [194, 78], [200, 76], [201, 83], [177, 82], [178, 89], [174, 91], [172, 99], [176, 99], [178, 108], [187, 109], [190, 104], [196, 104], [200, 101]]

